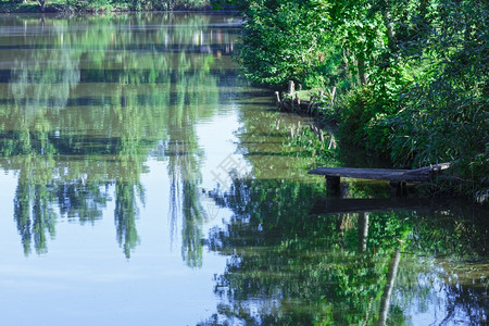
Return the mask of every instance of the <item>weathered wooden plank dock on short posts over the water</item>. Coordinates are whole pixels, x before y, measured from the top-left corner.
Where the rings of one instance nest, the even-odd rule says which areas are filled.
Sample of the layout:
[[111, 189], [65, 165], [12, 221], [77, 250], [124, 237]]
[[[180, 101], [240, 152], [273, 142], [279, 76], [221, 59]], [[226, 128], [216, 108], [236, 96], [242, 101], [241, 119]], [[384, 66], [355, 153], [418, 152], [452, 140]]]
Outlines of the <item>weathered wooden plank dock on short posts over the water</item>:
[[317, 167], [308, 173], [324, 175], [326, 187], [329, 190], [339, 191], [341, 177], [390, 181], [392, 187], [401, 188], [405, 184], [430, 183], [437, 174], [449, 167], [450, 163], [440, 163], [416, 170]]

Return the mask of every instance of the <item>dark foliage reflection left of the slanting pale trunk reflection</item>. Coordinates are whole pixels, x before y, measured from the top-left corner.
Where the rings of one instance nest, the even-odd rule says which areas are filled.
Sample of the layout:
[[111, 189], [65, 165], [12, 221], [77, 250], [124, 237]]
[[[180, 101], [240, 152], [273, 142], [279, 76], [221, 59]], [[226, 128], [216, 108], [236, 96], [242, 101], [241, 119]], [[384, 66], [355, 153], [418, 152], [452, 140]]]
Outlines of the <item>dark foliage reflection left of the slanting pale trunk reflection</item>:
[[[389, 215], [371, 215], [367, 251], [358, 252], [358, 216], [308, 216], [319, 196], [300, 183], [238, 179], [230, 195], [215, 198], [236, 214], [209, 242], [231, 254], [216, 291], [234, 305], [222, 306], [222, 314], [250, 324], [351, 324], [372, 306], [378, 310], [394, 248], [389, 246], [403, 236], [402, 225]], [[246, 309], [255, 300], [259, 315]]]

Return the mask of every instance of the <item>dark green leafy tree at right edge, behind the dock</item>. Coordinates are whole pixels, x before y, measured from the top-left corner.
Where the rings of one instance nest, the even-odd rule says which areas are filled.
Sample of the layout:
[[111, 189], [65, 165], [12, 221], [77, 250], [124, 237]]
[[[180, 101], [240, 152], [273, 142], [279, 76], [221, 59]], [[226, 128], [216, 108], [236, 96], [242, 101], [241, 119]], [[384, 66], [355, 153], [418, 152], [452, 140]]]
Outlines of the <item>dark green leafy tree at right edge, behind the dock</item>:
[[405, 55], [422, 67], [391, 121], [392, 158], [415, 166], [452, 161], [464, 191], [488, 185], [488, 32], [485, 1], [429, 2]]

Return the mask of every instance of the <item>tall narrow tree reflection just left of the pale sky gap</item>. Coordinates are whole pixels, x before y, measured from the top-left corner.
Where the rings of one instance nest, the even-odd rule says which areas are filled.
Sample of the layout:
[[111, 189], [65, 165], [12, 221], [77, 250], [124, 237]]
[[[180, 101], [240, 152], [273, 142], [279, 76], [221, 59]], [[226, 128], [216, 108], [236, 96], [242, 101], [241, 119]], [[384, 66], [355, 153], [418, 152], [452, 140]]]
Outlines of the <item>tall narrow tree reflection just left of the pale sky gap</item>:
[[[181, 255], [189, 266], [202, 265], [201, 223], [203, 210], [198, 198], [198, 185], [201, 179], [200, 164], [202, 153], [193, 129], [198, 118], [209, 114], [204, 105], [218, 99], [215, 97], [216, 80], [205, 74], [205, 65], [197, 65], [192, 58], [181, 53], [178, 58], [179, 70], [173, 110], [167, 112], [170, 139], [166, 142], [168, 174], [171, 177], [172, 223], [181, 214], [183, 246]], [[197, 70], [198, 68], [198, 70]], [[188, 72], [195, 70], [195, 74]], [[202, 84], [203, 82], [203, 84]], [[205, 88], [202, 88], [205, 85]], [[212, 105], [214, 106], [214, 105]], [[215, 106], [214, 106], [215, 108]], [[181, 188], [178, 187], [181, 184]], [[181, 208], [181, 212], [178, 211]]]

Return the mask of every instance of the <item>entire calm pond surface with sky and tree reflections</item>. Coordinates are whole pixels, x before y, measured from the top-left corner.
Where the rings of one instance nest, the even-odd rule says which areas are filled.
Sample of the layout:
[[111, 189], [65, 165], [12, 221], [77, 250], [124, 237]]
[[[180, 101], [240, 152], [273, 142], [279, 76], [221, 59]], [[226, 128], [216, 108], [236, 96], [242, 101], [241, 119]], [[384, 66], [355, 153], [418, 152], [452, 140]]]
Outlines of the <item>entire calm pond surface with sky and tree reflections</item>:
[[239, 23], [0, 16], [1, 324], [487, 324], [487, 209], [327, 199]]

